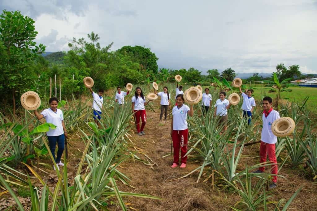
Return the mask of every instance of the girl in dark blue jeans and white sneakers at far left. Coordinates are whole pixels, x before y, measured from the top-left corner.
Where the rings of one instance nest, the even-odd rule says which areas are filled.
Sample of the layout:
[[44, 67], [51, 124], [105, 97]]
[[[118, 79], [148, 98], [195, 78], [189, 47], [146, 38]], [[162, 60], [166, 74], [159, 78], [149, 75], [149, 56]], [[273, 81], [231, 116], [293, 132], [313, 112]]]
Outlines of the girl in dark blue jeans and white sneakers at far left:
[[[49, 99], [49, 109], [45, 109], [39, 114], [37, 110], [34, 111], [34, 114], [36, 115], [37, 119], [40, 120], [42, 118], [45, 118], [47, 123], [51, 123], [56, 126], [56, 129], [49, 129], [49, 131], [46, 133], [47, 138], [49, 139], [49, 149], [52, 152], [52, 155], [55, 159], [55, 147], [56, 142], [58, 146], [57, 150], [57, 157], [55, 159], [55, 162], [58, 166], [64, 166], [64, 164], [61, 162], [61, 155], [63, 154], [64, 147], [65, 147], [65, 137], [67, 138], [67, 132], [66, 127], [64, 124], [64, 116], [63, 112], [60, 109], [57, 109], [58, 105], [58, 99], [56, 97], [52, 97]], [[55, 165], [53, 165], [53, 168], [55, 170]]]

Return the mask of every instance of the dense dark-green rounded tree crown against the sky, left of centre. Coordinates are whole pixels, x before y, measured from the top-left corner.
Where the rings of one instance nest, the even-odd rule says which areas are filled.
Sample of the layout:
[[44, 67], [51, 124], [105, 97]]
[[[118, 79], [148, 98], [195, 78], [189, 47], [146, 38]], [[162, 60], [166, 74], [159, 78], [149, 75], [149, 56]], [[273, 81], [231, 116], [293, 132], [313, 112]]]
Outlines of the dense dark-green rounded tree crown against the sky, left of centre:
[[130, 54], [131, 58], [133, 58], [134, 62], [138, 62], [140, 64], [140, 69], [149, 69], [154, 72], [154, 74], [158, 73], [158, 64], [157, 60], [159, 58], [156, 57], [155, 53], [151, 52], [150, 48], [145, 48], [141, 46], [124, 46], [121, 47], [119, 53]]

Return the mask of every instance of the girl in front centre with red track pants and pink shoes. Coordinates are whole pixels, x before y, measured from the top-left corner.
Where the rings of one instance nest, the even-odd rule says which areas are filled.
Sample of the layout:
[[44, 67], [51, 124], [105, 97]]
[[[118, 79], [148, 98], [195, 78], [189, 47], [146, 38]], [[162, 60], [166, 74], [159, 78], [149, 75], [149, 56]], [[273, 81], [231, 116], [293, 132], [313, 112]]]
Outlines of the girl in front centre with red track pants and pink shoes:
[[171, 165], [172, 168], [176, 168], [179, 164], [179, 148], [181, 149], [181, 165], [180, 168], [186, 167], [187, 156], [187, 142], [188, 142], [188, 126], [187, 126], [187, 114], [189, 116], [194, 115], [193, 105], [188, 107], [184, 104], [184, 95], [179, 94], [176, 96], [177, 105], [174, 106], [172, 111], [171, 121], [171, 138], [173, 141], [174, 149], [174, 161]]

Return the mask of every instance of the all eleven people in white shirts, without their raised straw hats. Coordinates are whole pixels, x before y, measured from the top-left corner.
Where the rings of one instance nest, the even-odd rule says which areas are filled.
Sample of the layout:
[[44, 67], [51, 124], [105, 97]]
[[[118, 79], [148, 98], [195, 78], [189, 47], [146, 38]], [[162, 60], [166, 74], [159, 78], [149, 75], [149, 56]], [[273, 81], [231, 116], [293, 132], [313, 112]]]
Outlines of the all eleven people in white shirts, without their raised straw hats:
[[[181, 151], [181, 162], [179, 167], [185, 168], [187, 162], [187, 142], [188, 142], [188, 123], [187, 123], [187, 115], [193, 116], [194, 110], [193, 105], [187, 106], [184, 104], [184, 92], [183, 87], [176, 86], [176, 96], [175, 96], [175, 106], [172, 109], [172, 119], [171, 119], [171, 138], [173, 142], [174, 149], [174, 159], [172, 168], [176, 168], [179, 165], [179, 150]], [[101, 110], [103, 107], [103, 93], [104, 90], [98, 90], [98, 93], [95, 93], [91, 88], [89, 88], [92, 96], [93, 96], [93, 114], [94, 120], [98, 122], [97, 119], [101, 119]], [[244, 93], [239, 88], [242, 97], [243, 97], [243, 116], [248, 118], [249, 124], [251, 123], [252, 111], [256, 106], [255, 100], [252, 97], [253, 90], [247, 90]], [[155, 94], [161, 97], [160, 102], [160, 120], [162, 120], [163, 114], [166, 120], [167, 111], [171, 108], [171, 95], [168, 92], [168, 88], [165, 86], [163, 91], [157, 92], [154, 90]], [[203, 114], [209, 111], [210, 106], [212, 105], [212, 96], [210, 95], [210, 90], [205, 88], [203, 96], [202, 96], [202, 110]], [[121, 87], [117, 87], [117, 93], [115, 95], [115, 101], [120, 105], [124, 104], [124, 98], [129, 94], [129, 91], [124, 92], [121, 91]], [[132, 110], [135, 118], [135, 125], [139, 136], [145, 135], [144, 127], [146, 125], [146, 110], [145, 106], [152, 101], [152, 99], [146, 101], [146, 98], [142, 92], [140, 87], [135, 89], [134, 96], [132, 97]], [[64, 124], [63, 113], [60, 109], [57, 109], [58, 99], [52, 97], [49, 99], [49, 109], [45, 109], [39, 114], [37, 110], [34, 111], [37, 119], [45, 118], [48, 123], [52, 123], [56, 126], [56, 129], [50, 129], [47, 132], [50, 151], [55, 159], [55, 162], [58, 166], [64, 166], [61, 162], [61, 155], [64, 150], [64, 140], [67, 137], [67, 131]], [[230, 108], [230, 102], [226, 99], [226, 93], [220, 92], [219, 99], [215, 102], [215, 113], [214, 115], [218, 115], [220, 117], [220, 123], [223, 123], [224, 128], [223, 131], [227, 129], [226, 122], [228, 120], [227, 117], [227, 109]], [[277, 174], [277, 161], [275, 156], [275, 143], [277, 141], [277, 137], [272, 133], [270, 125], [276, 119], [280, 118], [280, 115], [277, 111], [272, 108], [272, 99], [270, 97], [264, 97], [262, 100], [263, 107], [263, 129], [261, 136], [261, 145], [260, 145], [260, 160], [261, 162], [266, 162], [266, 156], [268, 154], [269, 160], [273, 163], [272, 173]], [[140, 119], [142, 121], [140, 127]], [[57, 157], [55, 158], [55, 146], [56, 143], [58, 145]], [[53, 165], [55, 170], [55, 165]], [[264, 167], [259, 168], [254, 173], [262, 173], [264, 171]], [[273, 176], [273, 183], [270, 185], [270, 188], [275, 188], [277, 182], [277, 177]]]

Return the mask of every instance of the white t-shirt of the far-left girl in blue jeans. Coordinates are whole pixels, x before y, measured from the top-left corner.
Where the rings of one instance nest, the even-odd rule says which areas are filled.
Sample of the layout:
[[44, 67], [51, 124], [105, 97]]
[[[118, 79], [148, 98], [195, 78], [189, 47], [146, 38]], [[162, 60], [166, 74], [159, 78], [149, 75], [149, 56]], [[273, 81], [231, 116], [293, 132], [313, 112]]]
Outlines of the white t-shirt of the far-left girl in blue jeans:
[[56, 129], [49, 129], [47, 136], [59, 136], [64, 133], [61, 121], [64, 121], [64, 115], [61, 109], [56, 109], [56, 113], [52, 109], [45, 109], [41, 112], [47, 123], [56, 126]]

